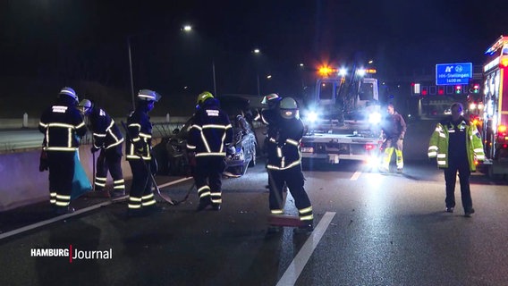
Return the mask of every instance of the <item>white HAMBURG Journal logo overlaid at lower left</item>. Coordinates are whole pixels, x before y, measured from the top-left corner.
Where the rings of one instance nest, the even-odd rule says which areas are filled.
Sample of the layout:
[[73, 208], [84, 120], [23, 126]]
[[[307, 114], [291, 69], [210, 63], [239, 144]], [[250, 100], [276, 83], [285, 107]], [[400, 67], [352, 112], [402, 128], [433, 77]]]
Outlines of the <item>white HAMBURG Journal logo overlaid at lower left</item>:
[[113, 259], [113, 248], [107, 250], [83, 250], [79, 248], [31, 248], [30, 257], [66, 257], [69, 263], [74, 260]]

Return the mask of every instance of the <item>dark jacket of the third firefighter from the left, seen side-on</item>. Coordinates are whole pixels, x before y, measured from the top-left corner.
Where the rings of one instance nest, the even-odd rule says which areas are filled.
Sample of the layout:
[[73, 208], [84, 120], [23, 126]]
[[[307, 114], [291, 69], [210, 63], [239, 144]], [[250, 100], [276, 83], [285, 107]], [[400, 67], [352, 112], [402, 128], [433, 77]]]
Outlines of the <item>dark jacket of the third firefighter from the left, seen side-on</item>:
[[142, 108], [136, 109], [134, 113], [127, 118], [127, 135], [129, 140], [125, 143], [125, 153], [127, 160], [150, 161], [152, 144], [152, 123], [147, 111]]

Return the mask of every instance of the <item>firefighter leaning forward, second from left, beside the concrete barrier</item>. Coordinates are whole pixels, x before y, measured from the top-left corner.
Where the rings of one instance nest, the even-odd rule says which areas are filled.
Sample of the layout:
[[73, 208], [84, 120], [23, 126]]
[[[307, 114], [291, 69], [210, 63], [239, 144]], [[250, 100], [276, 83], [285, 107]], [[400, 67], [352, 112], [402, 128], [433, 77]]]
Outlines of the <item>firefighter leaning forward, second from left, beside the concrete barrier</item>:
[[93, 134], [93, 146], [90, 151], [96, 153], [100, 150], [97, 157], [97, 173], [95, 177], [95, 190], [97, 196], [109, 198], [110, 194], [106, 187], [107, 171], [109, 170], [113, 178], [113, 198], [125, 196], [125, 181], [122, 173], [122, 143], [123, 135], [114, 120], [89, 99], [83, 99], [80, 102], [80, 111], [88, 118], [89, 129]]

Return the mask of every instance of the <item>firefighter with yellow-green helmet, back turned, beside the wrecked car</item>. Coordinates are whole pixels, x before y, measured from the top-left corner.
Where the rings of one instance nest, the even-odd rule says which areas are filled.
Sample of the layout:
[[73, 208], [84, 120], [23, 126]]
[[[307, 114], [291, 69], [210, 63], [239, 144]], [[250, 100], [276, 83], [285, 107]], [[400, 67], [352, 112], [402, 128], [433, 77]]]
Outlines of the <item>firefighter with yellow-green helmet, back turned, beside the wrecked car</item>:
[[218, 211], [222, 204], [222, 181], [227, 145], [233, 140], [233, 127], [218, 100], [208, 91], [199, 94], [198, 107], [189, 130], [187, 149], [196, 160], [194, 181], [198, 188], [199, 206]]

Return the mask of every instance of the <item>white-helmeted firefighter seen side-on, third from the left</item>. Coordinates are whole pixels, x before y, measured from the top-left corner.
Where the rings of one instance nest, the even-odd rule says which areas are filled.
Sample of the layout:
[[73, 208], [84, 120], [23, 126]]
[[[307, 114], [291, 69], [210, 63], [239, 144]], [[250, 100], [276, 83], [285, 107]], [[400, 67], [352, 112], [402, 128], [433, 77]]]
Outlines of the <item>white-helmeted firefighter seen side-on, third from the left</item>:
[[150, 180], [152, 123], [148, 113], [159, 99], [160, 95], [157, 92], [141, 89], [138, 93], [136, 109], [127, 118], [129, 140], [126, 141], [125, 153], [132, 172], [128, 216], [157, 210]]

